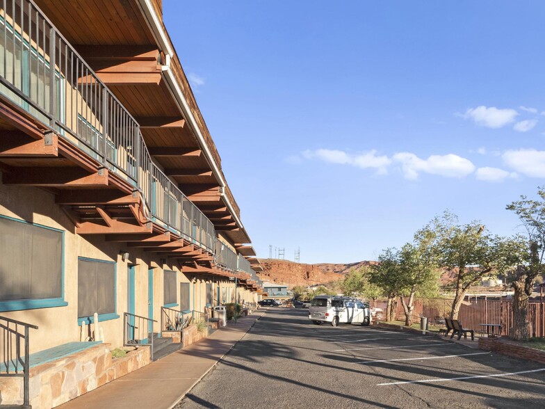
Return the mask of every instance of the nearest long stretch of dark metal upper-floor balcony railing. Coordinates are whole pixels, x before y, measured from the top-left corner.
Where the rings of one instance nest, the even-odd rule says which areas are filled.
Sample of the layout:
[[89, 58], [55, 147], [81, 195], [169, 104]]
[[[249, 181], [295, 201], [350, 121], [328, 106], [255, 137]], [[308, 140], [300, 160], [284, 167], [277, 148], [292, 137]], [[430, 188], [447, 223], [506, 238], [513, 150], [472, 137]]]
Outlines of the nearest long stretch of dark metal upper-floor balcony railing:
[[132, 184], [156, 223], [215, 250], [215, 231], [152, 161], [131, 114], [31, 0], [0, 0], [0, 93]]

